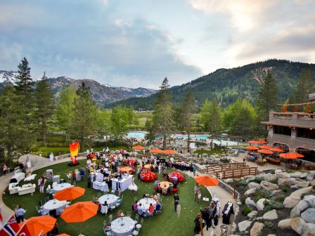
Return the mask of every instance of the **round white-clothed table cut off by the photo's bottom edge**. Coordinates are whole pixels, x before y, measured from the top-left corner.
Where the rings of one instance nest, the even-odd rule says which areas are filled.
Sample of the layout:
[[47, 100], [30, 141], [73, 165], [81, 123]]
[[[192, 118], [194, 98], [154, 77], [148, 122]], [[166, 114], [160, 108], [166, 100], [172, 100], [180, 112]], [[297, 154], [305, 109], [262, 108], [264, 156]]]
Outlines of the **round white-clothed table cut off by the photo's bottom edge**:
[[110, 232], [115, 236], [131, 235], [136, 221], [129, 217], [117, 218], [110, 224]]

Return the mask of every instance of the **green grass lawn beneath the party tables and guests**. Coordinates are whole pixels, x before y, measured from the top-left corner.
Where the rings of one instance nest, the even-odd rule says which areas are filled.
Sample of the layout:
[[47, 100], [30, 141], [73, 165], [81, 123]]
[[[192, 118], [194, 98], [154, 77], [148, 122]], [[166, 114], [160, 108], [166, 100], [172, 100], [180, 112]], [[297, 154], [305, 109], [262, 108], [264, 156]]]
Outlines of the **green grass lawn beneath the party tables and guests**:
[[[66, 179], [65, 173], [69, 170], [78, 169], [80, 166], [84, 166], [85, 160], [79, 161], [81, 164], [75, 167], [69, 167], [66, 163], [56, 164], [54, 166], [46, 167], [45, 169], [40, 169], [38, 171], [34, 171], [37, 173], [37, 178], [33, 181], [37, 183], [37, 179], [41, 173], [44, 173], [46, 169], [53, 169], [54, 174], [60, 174], [61, 178]], [[162, 179], [162, 176], [159, 176], [159, 179]], [[126, 214], [126, 211], [131, 211], [131, 204], [134, 202], [134, 197], [138, 197], [141, 199], [144, 193], [151, 194], [153, 192], [153, 183], [143, 183], [141, 181], [135, 180], [136, 185], [138, 186], [138, 191], [134, 196], [131, 195], [129, 190], [125, 190], [123, 192], [123, 202], [122, 205], [118, 208]], [[20, 183], [22, 185], [23, 182]], [[207, 202], [203, 202], [199, 205], [197, 202], [193, 201], [193, 187], [195, 185], [195, 181], [193, 178], [189, 178], [186, 176], [186, 181], [180, 183], [179, 186], [179, 198], [181, 204], [181, 215], [178, 217], [176, 212], [174, 211], [174, 199], [172, 195], [168, 195], [163, 197], [162, 200], [162, 214], [158, 214], [157, 216], [153, 216], [153, 218], [144, 218], [143, 227], [140, 230], [139, 235], [145, 236], [191, 236], [193, 235], [193, 228], [194, 223], [193, 220], [198, 214], [200, 206], [204, 207], [207, 205]], [[82, 188], [86, 188], [86, 178], [84, 181], [77, 182], [77, 186]], [[45, 188], [46, 189], [46, 188]], [[79, 201], [91, 201], [91, 199], [101, 192], [98, 190], [94, 190], [93, 188], [88, 189], [86, 188], [86, 192], [82, 197], [79, 197], [74, 202]], [[210, 193], [206, 190], [205, 187], [202, 188], [202, 195], [203, 197], [210, 197]], [[27, 209], [25, 214], [25, 218], [30, 218], [32, 216], [37, 216], [37, 211], [35, 209], [35, 205], [39, 200], [44, 202], [44, 197], [46, 194], [39, 193], [37, 188], [34, 195], [22, 195], [19, 196], [9, 195], [8, 189], [4, 194], [4, 202], [14, 209], [16, 204], [21, 204], [24, 209]], [[113, 214], [113, 219], [117, 218], [117, 209], [115, 211], [108, 211], [108, 215]], [[134, 213], [132, 215], [134, 217]], [[82, 233], [84, 235], [92, 236], [92, 235], [104, 235], [103, 233], [103, 221], [106, 219], [108, 222], [108, 216], [104, 216], [98, 213], [93, 218], [89, 219], [88, 221], [82, 223]], [[59, 224], [59, 232], [65, 232], [69, 235], [79, 235], [79, 223], [65, 223], [62, 218], [58, 217], [58, 224]]]

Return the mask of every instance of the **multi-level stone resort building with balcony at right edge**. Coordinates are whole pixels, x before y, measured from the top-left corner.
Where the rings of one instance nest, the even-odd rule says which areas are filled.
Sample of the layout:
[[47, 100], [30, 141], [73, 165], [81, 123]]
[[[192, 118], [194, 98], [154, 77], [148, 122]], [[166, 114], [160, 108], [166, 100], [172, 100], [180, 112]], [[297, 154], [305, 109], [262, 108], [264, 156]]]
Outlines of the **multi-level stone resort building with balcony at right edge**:
[[[315, 101], [315, 93], [309, 95]], [[313, 111], [314, 112], [314, 111]], [[315, 162], [315, 114], [310, 112], [269, 112], [268, 126], [270, 145], [304, 155], [302, 160]]]

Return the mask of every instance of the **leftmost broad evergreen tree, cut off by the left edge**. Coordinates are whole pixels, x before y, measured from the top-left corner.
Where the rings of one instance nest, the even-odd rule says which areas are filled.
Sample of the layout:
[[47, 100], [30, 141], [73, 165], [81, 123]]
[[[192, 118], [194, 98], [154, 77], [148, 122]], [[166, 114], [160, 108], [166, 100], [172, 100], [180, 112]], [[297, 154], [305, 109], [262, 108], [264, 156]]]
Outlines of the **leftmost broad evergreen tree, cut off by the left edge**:
[[13, 86], [6, 86], [0, 96], [0, 143], [6, 147], [9, 162], [12, 152], [25, 148], [21, 134], [27, 132], [20, 107], [20, 97]]

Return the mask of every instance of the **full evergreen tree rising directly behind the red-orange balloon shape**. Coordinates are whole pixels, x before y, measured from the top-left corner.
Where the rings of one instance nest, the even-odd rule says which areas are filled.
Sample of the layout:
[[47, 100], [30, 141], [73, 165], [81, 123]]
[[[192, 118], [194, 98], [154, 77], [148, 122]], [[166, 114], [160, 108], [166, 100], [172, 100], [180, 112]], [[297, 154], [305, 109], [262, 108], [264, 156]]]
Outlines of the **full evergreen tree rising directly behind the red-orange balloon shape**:
[[74, 102], [74, 110], [70, 133], [73, 138], [80, 141], [80, 146], [84, 147], [84, 138], [96, 133], [97, 107], [92, 100], [91, 91], [82, 83], [77, 89], [77, 98]]

